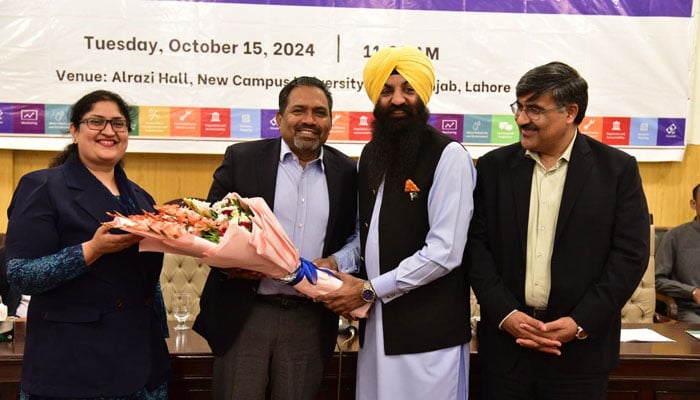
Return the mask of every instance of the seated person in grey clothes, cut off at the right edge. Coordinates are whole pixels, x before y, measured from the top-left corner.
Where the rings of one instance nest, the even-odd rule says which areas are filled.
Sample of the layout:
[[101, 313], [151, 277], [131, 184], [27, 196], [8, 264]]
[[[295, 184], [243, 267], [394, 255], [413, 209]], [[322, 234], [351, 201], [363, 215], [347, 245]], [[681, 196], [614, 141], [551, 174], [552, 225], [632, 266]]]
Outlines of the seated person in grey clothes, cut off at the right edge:
[[678, 304], [678, 320], [700, 323], [700, 185], [692, 191], [695, 217], [664, 235], [656, 249], [656, 291]]

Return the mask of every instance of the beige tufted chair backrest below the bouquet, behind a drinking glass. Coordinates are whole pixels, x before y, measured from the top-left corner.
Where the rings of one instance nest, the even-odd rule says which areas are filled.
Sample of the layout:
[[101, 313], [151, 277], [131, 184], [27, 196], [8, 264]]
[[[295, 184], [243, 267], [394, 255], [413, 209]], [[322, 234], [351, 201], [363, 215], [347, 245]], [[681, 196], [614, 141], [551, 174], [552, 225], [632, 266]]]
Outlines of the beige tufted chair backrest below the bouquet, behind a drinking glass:
[[169, 253], [164, 255], [160, 286], [163, 290], [165, 311], [169, 320], [175, 319], [170, 307], [174, 292], [185, 292], [192, 295], [192, 312], [189, 320], [193, 321], [197, 317], [199, 298], [202, 295], [207, 276], [209, 276], [209, 266], [200, 263], [194, 257]]

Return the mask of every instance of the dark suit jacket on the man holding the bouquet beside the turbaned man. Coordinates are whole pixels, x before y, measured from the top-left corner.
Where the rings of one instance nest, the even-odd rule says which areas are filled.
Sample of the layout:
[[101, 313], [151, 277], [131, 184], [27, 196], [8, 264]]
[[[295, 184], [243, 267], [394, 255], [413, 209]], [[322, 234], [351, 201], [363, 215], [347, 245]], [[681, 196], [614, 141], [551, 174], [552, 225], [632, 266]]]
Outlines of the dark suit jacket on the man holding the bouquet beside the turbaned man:
[[[274, 210], [281, 140], [264, 139], [229, 146], [221, 166], [214, 172], [208, 201], [237, 192], [243, 197], [262, 197]], [[357, 167], [352, 158], [329, 146], [323, 146], [323, 165], [329, 197], [323, 246], [323, 256], [327, 257], [340, 250], [355, 231]], [[224, 354], [233, 344], [255, 301], [258, 285], [258, 280], [229, 279], [217, 271], [209, 274], [194, 329], [207, 339], [214, 354]], [[324, 355], [329, 356], [338, 333], [338, 316], [326, 311], [321, 341]]]

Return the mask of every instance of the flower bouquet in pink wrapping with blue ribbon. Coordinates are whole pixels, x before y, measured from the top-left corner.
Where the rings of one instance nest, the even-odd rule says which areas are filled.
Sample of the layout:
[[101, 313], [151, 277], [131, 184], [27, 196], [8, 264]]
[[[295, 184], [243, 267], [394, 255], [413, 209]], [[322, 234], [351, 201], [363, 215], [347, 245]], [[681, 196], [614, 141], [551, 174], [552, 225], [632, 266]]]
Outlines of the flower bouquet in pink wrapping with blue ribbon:
[[[213, 204], [184, 202], [186, 207], [154, 206], [157, 212], [143, 215], [110, 214], [114, 219], [107, 224], [143, 236], [141, 251], [181, 254], [217, 268], [260, 272], [312, 299], [343, 285], [332, 271], [299, 256], [264, 199], [229, 193]], [[354, 310], [353, 316], [365, 318], [369, 306]]]

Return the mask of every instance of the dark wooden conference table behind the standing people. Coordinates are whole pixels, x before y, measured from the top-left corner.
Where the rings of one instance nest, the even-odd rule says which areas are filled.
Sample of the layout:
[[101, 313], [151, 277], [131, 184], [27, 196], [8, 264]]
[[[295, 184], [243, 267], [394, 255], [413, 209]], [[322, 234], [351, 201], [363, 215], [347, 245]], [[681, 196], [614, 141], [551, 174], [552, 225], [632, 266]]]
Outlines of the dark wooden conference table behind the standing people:
[[[213, 357], [206, 341], [191, 329], [174, 331], [167, 339], [172, 361], [170, 399], [211, 398]], [[700, 324], [626, 324], [625, 329], [650, 329], [673, 342], [626, 342], [620, 347], [620, 368], [610, 374], [611, 400], [700, 399], [700, 340], [688, 330]], [[0, 343], [0, 400], [16, 400], [19, 390], [24, 323], [18, 323], [14, 341]], [[357, 340], [339, 336], [338, 348], [326, 365], [319, 400], [355, 397]], [[472, 343], [470, 399], [478, 400], [479, 354]]]

